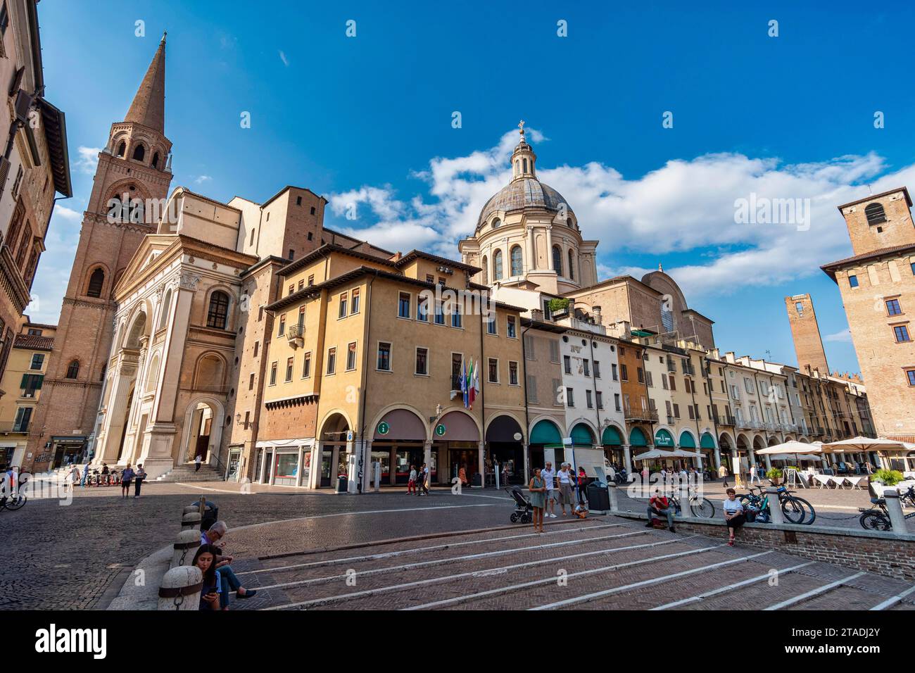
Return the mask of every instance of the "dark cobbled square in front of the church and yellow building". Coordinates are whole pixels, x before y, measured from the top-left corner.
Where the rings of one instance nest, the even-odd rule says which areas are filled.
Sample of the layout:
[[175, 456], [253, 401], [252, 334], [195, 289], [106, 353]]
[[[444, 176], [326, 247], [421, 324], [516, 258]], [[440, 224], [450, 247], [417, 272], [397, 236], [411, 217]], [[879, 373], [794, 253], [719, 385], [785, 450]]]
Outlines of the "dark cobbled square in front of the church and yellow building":
[[[206, 484], [237, 491], [225, 483]], [[114, 486], [77, 488], [71, 505], [31, 499], [15, 512], [0, 511], [4, 563], [0, 564], [0, 609], [103, 609], [148, 554], [174, 542], [181, 510], [200, 495], [220, 507], [231, 528], [277, 519], [305, 518], [302, 536], [281, 541], [284, 549], [339, 547], [392, 537], [507, 525], [505, 494], [434, 491], [428, 497], [400, 492], [347, 495], [265, 489], [266, 493], [220, 493], [177, 483], [147, 483], [138, 499], [120, 497]], [[258, 533], [262, 552], [277, 537]], [[229, 540], [232, 535], [230, 532]], [[233, 548], [234, 553], [236, 549]]]

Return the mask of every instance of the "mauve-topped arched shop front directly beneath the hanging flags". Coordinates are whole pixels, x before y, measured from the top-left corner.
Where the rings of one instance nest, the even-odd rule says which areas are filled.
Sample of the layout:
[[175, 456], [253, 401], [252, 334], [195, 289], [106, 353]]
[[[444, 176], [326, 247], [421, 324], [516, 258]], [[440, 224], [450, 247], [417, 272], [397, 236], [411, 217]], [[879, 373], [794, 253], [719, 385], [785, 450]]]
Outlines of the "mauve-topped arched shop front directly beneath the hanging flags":
[[483, 485], [479, 429], [468, 414], [449, 411], [436, 422], [432, 441], [432, 483], [453, 483], [461, 470], [471, 486]]

